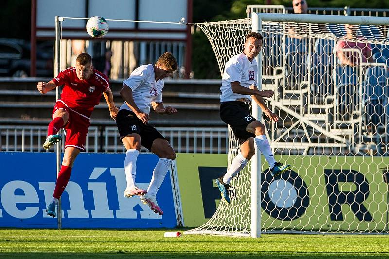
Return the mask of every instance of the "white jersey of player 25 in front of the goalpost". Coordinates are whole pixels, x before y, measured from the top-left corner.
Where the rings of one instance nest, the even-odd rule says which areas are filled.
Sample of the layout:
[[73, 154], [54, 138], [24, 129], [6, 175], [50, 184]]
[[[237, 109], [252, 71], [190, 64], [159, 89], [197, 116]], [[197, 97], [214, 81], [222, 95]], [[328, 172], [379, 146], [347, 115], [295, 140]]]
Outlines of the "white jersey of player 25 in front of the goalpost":
[[248, 60], [244, 53], [233, 56], [227, 63], [224, 69], [222, 86], [220, 91], [220, 102], [236, 101], [241, 98], [251, 100], [250, 95], [237, 94], [232, 92], [231, 82], [240, 82], [241, 86], [249, 88], [252, 84], [257, 86], [257, 61]]

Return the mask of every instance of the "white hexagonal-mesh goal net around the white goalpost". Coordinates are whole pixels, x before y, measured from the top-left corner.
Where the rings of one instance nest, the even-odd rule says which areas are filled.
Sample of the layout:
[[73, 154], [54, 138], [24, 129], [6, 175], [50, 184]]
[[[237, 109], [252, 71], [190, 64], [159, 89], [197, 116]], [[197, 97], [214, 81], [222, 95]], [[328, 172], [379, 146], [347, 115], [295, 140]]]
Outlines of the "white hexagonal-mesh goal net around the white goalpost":
[[[262, 233], [389, 233], [389, 19], [273, 16], [261, 23], [262, 89], [274, 91], [266, 103], [280, 120], [262, 121], [276, 160], [292, 170], [273, 178], [265, 159], [258, 166]], [[197, 26], [222, 74], [252, 18]], [[231, 131], [229, 143], [230, 165], [240, 152]], [[186, 234], [250, 236], [251, 163], [230, 185], [230, 204]]]

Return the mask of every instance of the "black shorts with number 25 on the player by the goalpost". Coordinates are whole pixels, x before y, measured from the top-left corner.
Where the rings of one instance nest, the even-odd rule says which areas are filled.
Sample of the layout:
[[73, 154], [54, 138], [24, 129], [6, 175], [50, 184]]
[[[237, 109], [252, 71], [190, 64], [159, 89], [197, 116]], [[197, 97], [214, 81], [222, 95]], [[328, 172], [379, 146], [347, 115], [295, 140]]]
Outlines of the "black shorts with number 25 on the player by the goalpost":
[[231, 126], [235, 138], [242, 145], [248, 138], [254, 138], [255, 134], [246, 131], [246, 127], [256, 121], [250, 113], [250, 106], [240, 101], [222, 102], [220, 104], [220, 118]]

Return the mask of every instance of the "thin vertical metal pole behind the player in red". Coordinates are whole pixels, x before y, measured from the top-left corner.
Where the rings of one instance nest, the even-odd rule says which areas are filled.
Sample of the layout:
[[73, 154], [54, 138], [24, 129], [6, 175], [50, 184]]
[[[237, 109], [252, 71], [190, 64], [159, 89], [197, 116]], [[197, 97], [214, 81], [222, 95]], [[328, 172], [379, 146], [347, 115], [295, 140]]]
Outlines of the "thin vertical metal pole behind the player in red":
[[[54, 75], [56, 77], [61, 71], [61, 55], [60, 55], [60, 27], [61, 27], [61, 19], [59, 16], [55, 16], [55, 66], [54, 66]], [[56, 100], [60, 98], [61, 94], [61, 86], [56, 87]], [[56, 157], [57, 157], [57, 178], [59, 174], [59, 170], [61, 169], [61, 141], [56, 144]], [[56, 178], [56, 179], [57, 179]], [[58, 220], [58, 229], [62, 228], [62, 210], [61, 210], [61, 198], [58, 200], [57, 206], [57, 220]]]

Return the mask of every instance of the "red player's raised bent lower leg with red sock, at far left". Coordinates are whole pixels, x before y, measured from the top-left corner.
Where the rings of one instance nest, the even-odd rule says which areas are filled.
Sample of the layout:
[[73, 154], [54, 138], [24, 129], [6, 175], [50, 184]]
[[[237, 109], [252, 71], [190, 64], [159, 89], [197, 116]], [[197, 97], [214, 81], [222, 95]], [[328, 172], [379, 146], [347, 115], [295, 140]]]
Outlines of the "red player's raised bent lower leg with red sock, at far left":
[[[55, 107], [54, 107], [55, 109]], [[43, 143], [44, 149], [49, 149], [53, 144], [61, 141], [62, 136], [57, 134], [59, 130], [67, 123], [69, 113], [65, 109], [56, 109], [53, 114], [53, 121], [47, 127], [47, 138]]]

